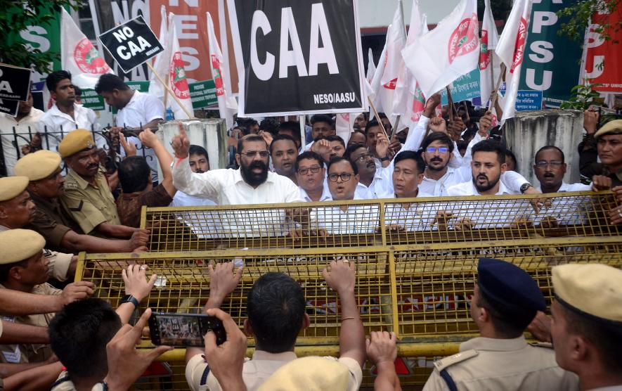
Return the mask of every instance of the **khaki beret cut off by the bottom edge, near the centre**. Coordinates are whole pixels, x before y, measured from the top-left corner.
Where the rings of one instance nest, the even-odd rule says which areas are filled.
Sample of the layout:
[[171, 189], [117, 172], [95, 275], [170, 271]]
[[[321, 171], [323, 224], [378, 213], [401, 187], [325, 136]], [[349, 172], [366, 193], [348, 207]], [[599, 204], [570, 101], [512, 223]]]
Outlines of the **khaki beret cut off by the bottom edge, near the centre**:
[[303, 357], [278, 368], [259, 391], [347, 390], [350, 371], [345, 364], [323, 357]]

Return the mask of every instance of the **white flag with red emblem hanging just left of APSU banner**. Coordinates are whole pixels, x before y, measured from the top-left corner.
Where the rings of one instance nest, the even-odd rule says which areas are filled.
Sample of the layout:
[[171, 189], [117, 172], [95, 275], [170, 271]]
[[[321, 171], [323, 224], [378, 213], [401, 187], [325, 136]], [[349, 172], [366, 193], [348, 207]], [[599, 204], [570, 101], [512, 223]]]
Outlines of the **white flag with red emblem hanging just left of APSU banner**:
[[521, 64], [525, 55], [527, 28], [531, 15], [531, 0], [516, 0], [507, 18], [495, 53], [507, 67], [505, 71], [505, 97], [502, 122], [514, 117], [516, 96], [521, 75]]

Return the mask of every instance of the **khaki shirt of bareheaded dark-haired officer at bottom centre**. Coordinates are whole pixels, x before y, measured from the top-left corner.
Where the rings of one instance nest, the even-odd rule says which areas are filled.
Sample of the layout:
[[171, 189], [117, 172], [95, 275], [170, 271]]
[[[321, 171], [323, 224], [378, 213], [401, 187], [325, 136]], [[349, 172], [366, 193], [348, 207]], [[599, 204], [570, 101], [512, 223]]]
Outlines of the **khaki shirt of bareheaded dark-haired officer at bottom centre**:
[[[296, 359], [297, 357], [294, 352], [268, 353], [256, 350], [252, 359], [245, 359], [242, 368], [242, 379], [244, 380], [247, 390], [258, 390], [261, 384], [279, 368]], [[358, 390], [358, 387], [361, 386], [361, 382], [363, 381], [363, 371], [361, 371], [361, 366], [358, 365], [356, 360], [348, 357], [342, 357], [340, 359], [336, 359], [335, 357], [322, 357], [322, 359], [336, 360], [344, 364], [350, 373], [347, 390]], [[188, 364], [186, 364], [186, 381], [193, 391], [222, 390], [216, 377], [209, 371], [209, 366], [207, 366], [207, 362], [205, 362], [202, 354], [196, 354], [195, 357], [191, 358]]]

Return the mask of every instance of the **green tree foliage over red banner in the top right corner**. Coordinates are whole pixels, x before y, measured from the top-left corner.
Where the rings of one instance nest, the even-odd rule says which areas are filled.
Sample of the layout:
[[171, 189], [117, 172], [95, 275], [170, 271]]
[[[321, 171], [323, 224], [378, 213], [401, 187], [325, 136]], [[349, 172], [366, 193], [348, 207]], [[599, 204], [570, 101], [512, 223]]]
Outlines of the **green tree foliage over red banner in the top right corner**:
[[[581, 42], [585, 36], [585, 28], [595, 13], [613, 14], [622, 7], [622, 0], [578, 0], [571, 6], [562, 8], [557, 15], [567, 17], [569, 20], [562, 23], [557, 34], [565, 35], [574, 41]], [[611, 32], [618, 32], [622, 28], [622, 21], [613, 23], [600, 23], [595, 32], [600, 34], [606, 41], [611, 40]], [[617, 44], [617, 41], [614, 41]]]

